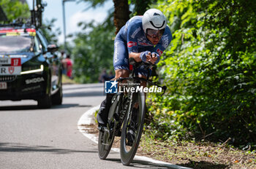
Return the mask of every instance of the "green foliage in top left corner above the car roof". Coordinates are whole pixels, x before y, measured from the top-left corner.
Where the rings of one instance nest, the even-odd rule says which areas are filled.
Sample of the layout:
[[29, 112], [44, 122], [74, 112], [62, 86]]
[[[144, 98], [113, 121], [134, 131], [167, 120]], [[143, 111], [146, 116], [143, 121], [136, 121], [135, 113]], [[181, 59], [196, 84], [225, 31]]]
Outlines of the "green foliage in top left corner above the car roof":
[[1, 0], [0, 6], [4, 9], [8, 20], [27, 20], [30, 17], [29, 5], [23, 4], [19, 0]]

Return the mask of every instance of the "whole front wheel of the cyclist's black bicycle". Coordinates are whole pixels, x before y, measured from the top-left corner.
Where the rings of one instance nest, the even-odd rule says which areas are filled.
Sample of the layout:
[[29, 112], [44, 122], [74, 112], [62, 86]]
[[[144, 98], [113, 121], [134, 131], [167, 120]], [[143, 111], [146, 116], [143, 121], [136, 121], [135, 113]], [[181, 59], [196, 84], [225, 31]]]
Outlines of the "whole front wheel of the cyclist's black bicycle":
[[[137, 111], [133, 111], [134, 109]], [[127, 112], [124, 118], [124, 124], [121, 131], [120, 155], [123, 165], [129, 165], [137, 152], [143, 131], [145, 109], [145, 94], [133, 93], [132, 103], [130, 105], [129, 112]], [[134, 140], [132, 143], [128, 138], [129, 135], [127, 135], [131, 127], [133, 127], [134, 131]]]

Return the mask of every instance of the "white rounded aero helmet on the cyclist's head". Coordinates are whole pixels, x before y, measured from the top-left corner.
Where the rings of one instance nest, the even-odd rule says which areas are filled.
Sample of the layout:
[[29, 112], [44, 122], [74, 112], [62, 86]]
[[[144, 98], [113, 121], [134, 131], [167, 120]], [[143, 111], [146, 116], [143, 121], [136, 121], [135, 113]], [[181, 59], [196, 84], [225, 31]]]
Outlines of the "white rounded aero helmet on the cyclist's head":
[[166, 17], [159, 9], [148, 9], [142, 17], [142, 27], [144, 32], [148, 28], [160, 30], [166, 27]]

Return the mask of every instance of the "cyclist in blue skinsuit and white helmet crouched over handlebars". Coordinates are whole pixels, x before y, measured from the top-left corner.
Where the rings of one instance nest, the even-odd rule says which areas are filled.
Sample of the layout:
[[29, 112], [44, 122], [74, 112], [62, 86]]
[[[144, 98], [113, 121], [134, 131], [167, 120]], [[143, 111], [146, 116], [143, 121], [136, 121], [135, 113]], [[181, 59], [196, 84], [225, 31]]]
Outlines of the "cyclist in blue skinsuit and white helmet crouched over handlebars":
[[[113, 55], [116, 73], [114, 79], [129, 76], [129, 58], [134, 58], [136, 62], [158, 63], [171, 40], [172, 34], [167, 26], [166, 17], [158, 9], [148, 9], [143, 16], [129, 19], [116, 35]], [[148, 71], [140, 67], [137, 74], [146, 78]], [[142, 85], [145, 87], [146, 83]], [[97, 114], [99, 127], [106, 127], [108, 123], [112, 98], [113, 94], [107, 93], [101, 103]]]

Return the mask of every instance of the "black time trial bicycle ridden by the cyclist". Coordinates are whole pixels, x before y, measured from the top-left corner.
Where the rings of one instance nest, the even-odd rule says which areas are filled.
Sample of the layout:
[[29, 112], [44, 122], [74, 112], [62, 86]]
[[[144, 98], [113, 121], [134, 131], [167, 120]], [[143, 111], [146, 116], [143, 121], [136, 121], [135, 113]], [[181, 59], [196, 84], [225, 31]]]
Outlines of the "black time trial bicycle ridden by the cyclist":
[[[125, 82], [128, 86], [124, 87], [138, 88], [140, 87], [140, 82], [148, 82], [148, 84], [162, 88], [162, 95], [165, 93], [166, 86], [159, 86], [159, 84], [149, 80], [149, 71], [154, 66], [153, 64], [137, 63], [134, 59], [129, 59], [129, 63], [133, 65], [132, 73], [127, 78], [120, 77], [116, 79], [119, 84]], [[138, 77], [138, 74], [135, 73], [140, 66], [144, 66], [148, 70], [146, 79]], [[113, 96], [107, 127], [99, 127], [98, 154], [101, 160], [105, 160], [108, 157], [115, 136], [121, 136], [121, 162], [123, 165], [129, 165], [132, 162], [143, 132], [145, 113], [146, 95], [143, 90], [140, 90], [140, 92], [123, 91]]]

